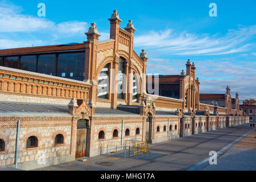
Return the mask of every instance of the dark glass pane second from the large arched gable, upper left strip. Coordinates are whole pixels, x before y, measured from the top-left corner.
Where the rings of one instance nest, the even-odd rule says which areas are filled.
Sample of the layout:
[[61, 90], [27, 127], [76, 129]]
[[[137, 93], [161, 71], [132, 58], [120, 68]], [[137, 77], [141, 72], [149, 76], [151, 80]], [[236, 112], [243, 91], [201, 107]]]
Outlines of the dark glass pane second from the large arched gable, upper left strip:
[[55, 75], [55, 54], [40, 55], [38, 57], [38, 73], [45, 73], [47, 75]]

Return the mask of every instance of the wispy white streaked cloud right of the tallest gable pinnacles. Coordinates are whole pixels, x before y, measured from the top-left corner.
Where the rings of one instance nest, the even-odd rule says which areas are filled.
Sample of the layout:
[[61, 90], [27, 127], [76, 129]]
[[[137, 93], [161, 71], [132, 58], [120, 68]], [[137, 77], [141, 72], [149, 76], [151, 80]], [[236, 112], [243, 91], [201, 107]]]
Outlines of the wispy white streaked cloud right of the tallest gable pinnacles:
[[256, 49], [252, 41], [255, 37], [256, 25], [239, 26], [236, 30], [228, 30], [226, 35], [177, 33], [167, 29], [135, 36], [134, 46], [169, 55], [224, 55]]

